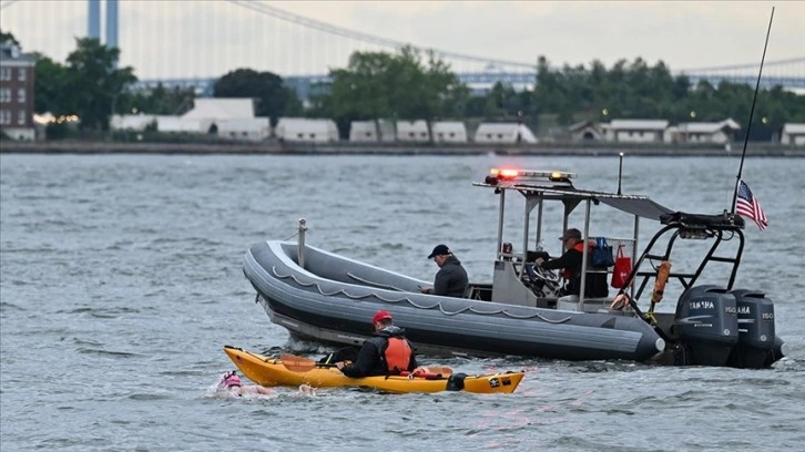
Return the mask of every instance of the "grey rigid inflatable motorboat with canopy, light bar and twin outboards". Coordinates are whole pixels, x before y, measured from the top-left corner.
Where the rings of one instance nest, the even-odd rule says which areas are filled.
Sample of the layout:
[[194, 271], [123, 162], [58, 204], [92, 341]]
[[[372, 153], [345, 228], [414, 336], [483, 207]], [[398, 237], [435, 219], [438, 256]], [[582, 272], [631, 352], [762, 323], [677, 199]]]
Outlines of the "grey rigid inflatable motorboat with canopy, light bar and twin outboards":
[[[561, 172], [492, 170], [473, 184], [499, 196], [497, 254], [492, 282], [471, 282], [462, 298], [421, 294], [419, 287], [430, 281], [306, 245], [304, 219], [298, 242], [256, 244], [246, 253], [243, 270], [273, 322], [295, 338], [337, 346], [359, 346], [369, 333], [367, 319], [385, 309], [420, 353], [740, 368], [764, 368], [782, 358], [773, 302], [762, 291], [733, 287], [744, 246], [741, 217], [679, 213], [645, 196], [579, 189], [573, 177]], [[521, 253], [503, 242], [507, 193], [524, 198], [518, 233]], [[600, 237], [633, 263], [614, 297], [583, 290], [564, 296], [557, 275], [529, 265], [542, 243], [542, 206], [549, 202], [563, 204], [562, 229], [573, 209], [584, 206], [584, 242], [593, 238], [589, 235], [593, 208], [609, 206], [633, 216], [632, 237]], [[641, 219], [660, 222], [661, 228], [638, 254]], [[704, 249], [691, 269], [671, 265], [683, 240]], [[585, 247], [585, 263], [588, 254]], [[727, 267], [725, 280], [702, 284], [705, 267], [713, 263]], [[612, 266], [588, 266], [580, 275], [581, 287], [612, 273]], [[675, 312], [654, 310], [665, 284], [681, 287]], [[640, 307], [641, 299], [648, 300], [648, 309], [646, 302]]]

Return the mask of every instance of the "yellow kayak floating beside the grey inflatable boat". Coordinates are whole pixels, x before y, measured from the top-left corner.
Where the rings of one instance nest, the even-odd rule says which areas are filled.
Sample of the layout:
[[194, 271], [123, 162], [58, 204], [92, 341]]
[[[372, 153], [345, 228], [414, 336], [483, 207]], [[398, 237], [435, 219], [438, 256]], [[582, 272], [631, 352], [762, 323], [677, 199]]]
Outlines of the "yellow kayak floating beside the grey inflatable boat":
[[262, 386], [310, 384], [316, 388], [360, 387], [384, 392], [441, 392], [447, 390], [475, 393], [511, 393], [520, 384], [523, 371], [491, 373], [486, 376], [449, 377], [430, 376], [428, 378], [409, 378], [400, 376], [350, 378], [332, 364], [310, 364], [310, 370], [296, 371], [283, 364], [282, 359], [267, 358], [235, 347], [224, 347], [232, 362], [249, 380]]

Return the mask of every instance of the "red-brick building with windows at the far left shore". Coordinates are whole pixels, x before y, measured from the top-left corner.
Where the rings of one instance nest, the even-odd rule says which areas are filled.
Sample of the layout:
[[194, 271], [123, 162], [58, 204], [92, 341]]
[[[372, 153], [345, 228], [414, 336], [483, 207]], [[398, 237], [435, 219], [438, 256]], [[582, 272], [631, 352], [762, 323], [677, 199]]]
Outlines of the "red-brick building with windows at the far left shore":
[[37, 60], [12, 41], [0, 43], [0, 131], [33, 141], [33, 66]]

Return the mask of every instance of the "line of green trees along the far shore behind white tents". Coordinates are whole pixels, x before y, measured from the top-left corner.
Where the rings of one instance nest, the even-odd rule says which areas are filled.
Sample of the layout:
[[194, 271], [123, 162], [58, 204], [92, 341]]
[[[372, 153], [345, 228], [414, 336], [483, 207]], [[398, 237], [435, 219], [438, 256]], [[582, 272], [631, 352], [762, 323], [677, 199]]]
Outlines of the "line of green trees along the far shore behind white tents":
[[[17, 42], [10, 33], [0, 40]], [[77, 39], [65, 63], [35, 54], [35, 111], [55, 116], [77, 114], [80, 129], [106, 131], [112, 114], [182, 114], [196, 93], [157, 85], [134, 91], [134, 69], [119, 68], [119, 49], [98, 40]], [[544, 56], [536, 64], [534, 85], [516, 91], [496, 84], [472, 93], [449, 64], [430, 52], [407, 47], [396, 53], [355, 52], [346, 68], [329, 71], [329, 80], [312, 86], [307, 105], [282, 76], [237, 69], [216, 81], [216, 97], [251, 97], [255, 114], [276, 123], [282, 116], [329, 117], [346, 136], [351, 121], [438, 120], [521, 121], [531, 126], [567, 126], [578, 121], [662, 119], [672, 123], [748, 117], [754, 88], [706, 81], [692, 84], [673, 75], [662, 61], [620, 60], [608, 69], [595, 60], [589, 66], [553, 68]], [[767, 129], [805, 122], [804, 96], [775, 86], [757, 95], [755, 121]], [[753, 123], [753, 129], [755, 129]], [[745, 124], [742, 124], [745, 130]]]

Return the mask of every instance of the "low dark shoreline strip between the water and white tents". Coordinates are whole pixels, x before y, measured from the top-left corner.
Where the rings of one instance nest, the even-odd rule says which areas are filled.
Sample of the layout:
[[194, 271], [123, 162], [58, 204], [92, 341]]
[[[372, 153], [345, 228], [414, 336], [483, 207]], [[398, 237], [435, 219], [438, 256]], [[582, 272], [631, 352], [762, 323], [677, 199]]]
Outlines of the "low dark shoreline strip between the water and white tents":
[[[664, 143], [156, 143], [156, 142], [0, 142], [0, 154], [224, 154], [224, 155], [572, 155], [613, 156], [740, 156], [743, 144], [731, 151], [714, 144]], [[805, 157], [805, 146], [750, 143], [747, 156]]]

